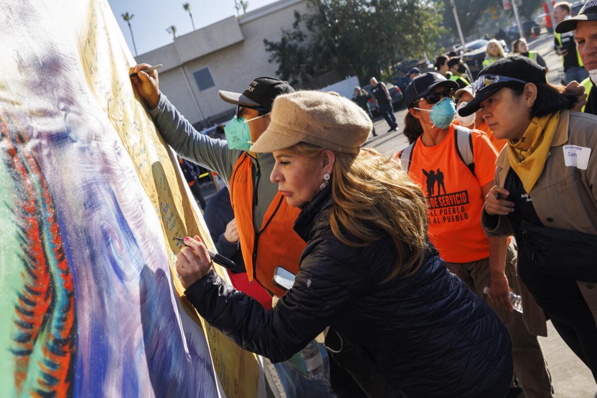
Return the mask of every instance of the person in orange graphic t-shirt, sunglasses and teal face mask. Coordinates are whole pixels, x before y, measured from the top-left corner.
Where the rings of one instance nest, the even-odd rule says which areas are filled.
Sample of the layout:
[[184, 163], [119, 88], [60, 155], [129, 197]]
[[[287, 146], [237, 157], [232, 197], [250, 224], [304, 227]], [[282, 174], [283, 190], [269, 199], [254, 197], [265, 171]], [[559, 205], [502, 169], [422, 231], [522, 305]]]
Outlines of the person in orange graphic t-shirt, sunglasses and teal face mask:
[[[529, 397], [551, 397], [552, 386], [536, 335], [513, 312], [518, 291], [515, 248], [507, 238], [487, 238], [481, 226], [485, 195], [493, 186], [497, 151], [485, 133], [451, 122], [456, 84], [435, 72], [415, 77], [405, 90], [402, 168], [426, 192], [429, 238], [448, 269], [478, 294], [506, 325], [513, 341], [515, 374]], [[489, 287], [489, 294], [484, 288]], [[507, 308], [504, 309], [504, 308]]]

